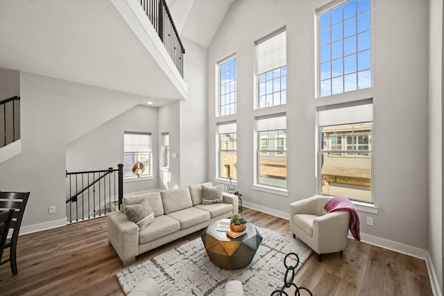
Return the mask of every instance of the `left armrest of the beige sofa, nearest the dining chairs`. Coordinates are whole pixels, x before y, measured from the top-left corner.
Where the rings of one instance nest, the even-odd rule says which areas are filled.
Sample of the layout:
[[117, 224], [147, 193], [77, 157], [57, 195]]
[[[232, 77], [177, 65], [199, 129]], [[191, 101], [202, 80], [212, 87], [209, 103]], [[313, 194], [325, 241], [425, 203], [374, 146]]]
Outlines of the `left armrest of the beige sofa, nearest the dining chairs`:
[[107, 221], [108, 241], [123, 261], [123, 265], [129, 265], [139, 254], [139, 227], [128, 220], [121, 211], [108, 213]]

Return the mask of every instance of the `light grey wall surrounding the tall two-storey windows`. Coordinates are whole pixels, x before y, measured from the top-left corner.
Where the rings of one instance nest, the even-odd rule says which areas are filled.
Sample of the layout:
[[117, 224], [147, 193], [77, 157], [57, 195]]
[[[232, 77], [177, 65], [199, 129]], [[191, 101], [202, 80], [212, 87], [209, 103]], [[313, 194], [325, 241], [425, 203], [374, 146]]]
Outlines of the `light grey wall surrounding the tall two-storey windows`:
[[[367, 237], [427, 250], [428, 3], [373, 1], [373, 85], [343, 96], [315, 98], [314, 12], [323, 0], [238, 0], [208, 51], [209, 177], [216, 176], [215, 125], [237, 121], [238, 182], [244, 202], [287, 215], [289, 203], [316, 193], [316, 106], [373, 98], [373, 198], [378, 214], [360, 212]], [[395, 15], [402, 15], [396, 17]], [[255, 40], [287, 26], [287, 105], [253, 110]], [[217, 60], [237, 53], [238, 114], [214, 118]], [[266, 112], [287, 113], [289, 196], [252, 189], [253, 125]], [[408, 161], [406, 161], [408, 159]], [[373, 216], [374, 226], [365, 225]], [[414, 235], [412, 235], [414, 234]]]

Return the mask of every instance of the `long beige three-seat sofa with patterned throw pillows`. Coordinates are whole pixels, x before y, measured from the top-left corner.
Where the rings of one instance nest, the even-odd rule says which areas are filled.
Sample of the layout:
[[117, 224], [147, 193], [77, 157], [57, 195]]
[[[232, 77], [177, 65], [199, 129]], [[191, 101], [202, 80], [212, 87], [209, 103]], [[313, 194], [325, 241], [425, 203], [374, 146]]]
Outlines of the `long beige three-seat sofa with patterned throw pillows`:
[[[123, 267], [135, 263], [135, 256], [139, 254], [204, 229], [214, 220], [237, 213], [237, 195], [230, 193], [223, 193], [223, 202], [203, 204], [203, 185], [211, 187], [212, 183], [123, 198], [121, 210], [109, 213], [107, 218], [108, 241], [119, 255]], [[125, 208], [140, 204], [143, 200], [148, 200], [153, 209], [154, 220], [139, 230], [126, 216]]]

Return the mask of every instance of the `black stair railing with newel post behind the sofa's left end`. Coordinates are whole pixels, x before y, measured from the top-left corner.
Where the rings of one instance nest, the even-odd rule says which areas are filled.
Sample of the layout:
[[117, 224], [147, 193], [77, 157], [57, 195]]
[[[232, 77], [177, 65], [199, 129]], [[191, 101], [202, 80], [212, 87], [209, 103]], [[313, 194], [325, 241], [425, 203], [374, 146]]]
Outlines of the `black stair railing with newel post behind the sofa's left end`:
[[122, 198], [123, 164], [101, 171], [67, 172], [69, 223], [105, 216], [119, 209]]

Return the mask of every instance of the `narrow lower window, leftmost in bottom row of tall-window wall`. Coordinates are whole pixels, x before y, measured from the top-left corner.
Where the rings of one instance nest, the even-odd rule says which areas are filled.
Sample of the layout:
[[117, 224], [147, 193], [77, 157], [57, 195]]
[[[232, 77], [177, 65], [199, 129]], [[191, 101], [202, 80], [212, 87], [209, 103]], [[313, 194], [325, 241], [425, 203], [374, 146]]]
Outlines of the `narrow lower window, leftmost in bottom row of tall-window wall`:
[[237, 180], [236, 123], [219, 124], [219, 177]]

